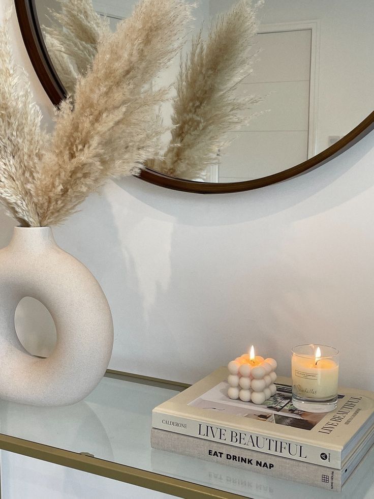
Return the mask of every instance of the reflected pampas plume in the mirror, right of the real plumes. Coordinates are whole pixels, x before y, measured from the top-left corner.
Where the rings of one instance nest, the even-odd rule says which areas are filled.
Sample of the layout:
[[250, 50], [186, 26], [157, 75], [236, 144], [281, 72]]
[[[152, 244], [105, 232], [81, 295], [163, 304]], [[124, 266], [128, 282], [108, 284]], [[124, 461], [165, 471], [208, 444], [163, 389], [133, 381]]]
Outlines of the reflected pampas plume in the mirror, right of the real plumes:
[[211, 26], [207, 41], [201, 32], [181, 61], [173, 101], [172, 138], [163, 160], [147, 166], [181, 179], [204, 178], [227, 145], [227, 132], [245, 123], [242, 110], [261, 99], [240, 97], [237, 86], [252, 72], [252, 42], [257, 32], [251, 0], [241, 0]]

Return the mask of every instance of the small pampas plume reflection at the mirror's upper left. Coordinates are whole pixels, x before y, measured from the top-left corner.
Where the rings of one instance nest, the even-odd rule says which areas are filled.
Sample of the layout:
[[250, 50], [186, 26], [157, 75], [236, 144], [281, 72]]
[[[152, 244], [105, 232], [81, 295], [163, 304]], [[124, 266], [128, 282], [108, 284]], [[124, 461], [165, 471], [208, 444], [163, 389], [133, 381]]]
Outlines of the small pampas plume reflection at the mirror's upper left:
[[76, 72], [86, 74], [96, 56], [99, 40], [110, 32], [109, 23], [93, 9], [91, 0], [57, 2], [60, 11], [52, 9], [51, 26], [43, 26], [48, 52], [52, 55], [62, 50]]

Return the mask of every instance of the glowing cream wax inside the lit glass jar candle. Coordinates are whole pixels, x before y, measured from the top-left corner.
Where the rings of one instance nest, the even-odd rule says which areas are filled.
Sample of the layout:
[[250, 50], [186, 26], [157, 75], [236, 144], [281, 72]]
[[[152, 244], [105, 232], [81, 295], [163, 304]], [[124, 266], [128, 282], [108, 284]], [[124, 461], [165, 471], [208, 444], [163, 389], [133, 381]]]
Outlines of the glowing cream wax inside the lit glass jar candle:
[[292, 391], [301, 398], [329, 399], [337, 394], [339, 366], [332, 359], [292, 356]]

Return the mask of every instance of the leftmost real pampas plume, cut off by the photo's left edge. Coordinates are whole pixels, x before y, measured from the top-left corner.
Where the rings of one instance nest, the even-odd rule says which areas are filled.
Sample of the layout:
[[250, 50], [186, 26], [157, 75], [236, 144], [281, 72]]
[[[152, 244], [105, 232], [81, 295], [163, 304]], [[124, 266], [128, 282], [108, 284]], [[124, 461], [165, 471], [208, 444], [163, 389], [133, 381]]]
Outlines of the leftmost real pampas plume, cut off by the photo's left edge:
[[10, 12], [0, 27], [0, 202], [22, 226], [38, 226], [31, 193], [46, 136], [41, 112], [32, 102], [25, 75], [14, 67], [7, 30]]

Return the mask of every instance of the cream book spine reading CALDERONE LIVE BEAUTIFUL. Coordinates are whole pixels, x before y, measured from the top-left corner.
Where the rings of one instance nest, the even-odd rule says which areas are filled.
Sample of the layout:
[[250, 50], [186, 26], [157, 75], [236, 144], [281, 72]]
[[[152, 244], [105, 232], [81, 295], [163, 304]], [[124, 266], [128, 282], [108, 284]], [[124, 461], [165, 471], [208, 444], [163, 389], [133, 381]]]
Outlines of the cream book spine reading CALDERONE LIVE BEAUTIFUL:
[[284, 440], [281, 435], [272, 436], [267, 435], [265, 432], [254, 433], [230, 426], [216, 426], [208, 420], [184, 418], [175, 414], [158, 412], [155, 409], [152, 411], [152, 426], [161, 430], [252, 449], [296, 461], [318, 464], [334, 469], [341, 468], [340, 451], [318, 445]]

